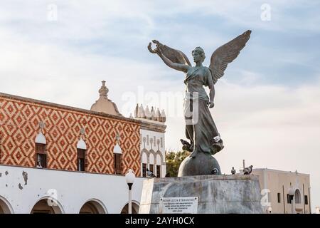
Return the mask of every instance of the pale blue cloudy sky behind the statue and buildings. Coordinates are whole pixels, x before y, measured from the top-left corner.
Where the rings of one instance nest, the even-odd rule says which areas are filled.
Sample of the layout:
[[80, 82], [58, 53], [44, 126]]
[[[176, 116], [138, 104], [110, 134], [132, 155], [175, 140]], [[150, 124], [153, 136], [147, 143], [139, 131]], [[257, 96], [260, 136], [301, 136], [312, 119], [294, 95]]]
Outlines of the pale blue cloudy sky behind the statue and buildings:
[[0, 1], [0, 92], [89, 109], [101, 81], [129, 116], [163, 108], [166, 147], [180, 148], [183, 73], [146, 46], [156, 38], [191, 59], [252, 30], [215, 85], [223, 172], [254, 167], [311, 175], [320, 206], [319, 1]]

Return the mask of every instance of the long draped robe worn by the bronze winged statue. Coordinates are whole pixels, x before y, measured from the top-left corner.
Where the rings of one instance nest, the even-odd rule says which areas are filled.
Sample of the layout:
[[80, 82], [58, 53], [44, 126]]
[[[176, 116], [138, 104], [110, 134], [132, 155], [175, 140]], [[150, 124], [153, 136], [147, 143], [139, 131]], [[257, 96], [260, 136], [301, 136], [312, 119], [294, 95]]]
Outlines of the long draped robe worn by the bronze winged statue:
[[[186, 138], [191, 140], [191, 150], [215, 153], [222, 149], [222, 140], [218, 143], [218, 151], [213, 151], [214, 138], [219, 136], [210, 110], [208, 95], [203, 86], [209, 86], [210, 70], [204, 66], [194, 67], [186, 74], [186, 97], [184, 99], [184, 116], [186, 120]], [[212, 85], [213, 86], [213, 85]]]

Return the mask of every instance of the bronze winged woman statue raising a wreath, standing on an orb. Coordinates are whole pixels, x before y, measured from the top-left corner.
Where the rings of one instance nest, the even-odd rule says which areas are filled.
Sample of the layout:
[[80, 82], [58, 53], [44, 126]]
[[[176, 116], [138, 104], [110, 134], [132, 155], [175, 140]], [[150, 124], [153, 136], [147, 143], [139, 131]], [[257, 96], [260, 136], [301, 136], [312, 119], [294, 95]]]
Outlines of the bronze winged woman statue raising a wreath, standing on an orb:
[[[186, 96], [183, 108], [186, 120], [186, 138], [190, 142], [186, 140], [181, 140], [181, 142], [184, 150], [192, 152], [190, 157], [196, 157], [199, 152], [214, 155], [224, 147], [209, 110], [214, 106], [214, 85], [224, 75], [228, 63], [237, 58], [241, 49], [245, 47], [250, 33], [250, 30], [245, 31], [215, 50], [210, 58], [209, 67], [203, 66], [206, 56], [201, 47], [196, 47], [192, 51], [193, 61], [196, 65], [191, 66], [188, 57], [182, 51], [170, 48], [155, 40], [152, 41], [156, 44], [156, 48], [153, 50], [151, 43], [149, 43], [149, 51], [157, 53], [167, 66], [186, 73], [184, 80]], [[208, 86], [209, 96], [203, 86]]]

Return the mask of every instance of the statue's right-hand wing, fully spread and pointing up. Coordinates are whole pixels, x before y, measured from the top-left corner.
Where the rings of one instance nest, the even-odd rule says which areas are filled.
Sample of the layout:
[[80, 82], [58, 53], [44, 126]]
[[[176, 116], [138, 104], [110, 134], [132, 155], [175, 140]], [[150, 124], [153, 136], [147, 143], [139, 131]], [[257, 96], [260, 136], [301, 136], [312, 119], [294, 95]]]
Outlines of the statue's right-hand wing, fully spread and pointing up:
[[210, 71], [212, 74], [213, 83], [215, 84], [221, 78], [227, 68], [228, 63], [231, 63], [239, 55], [245, 43], [250, 38], [251, 30], [245, 31], [240, 36], [234, 38], [232, 41], [220, 46], [213, 52], [210, 59]]

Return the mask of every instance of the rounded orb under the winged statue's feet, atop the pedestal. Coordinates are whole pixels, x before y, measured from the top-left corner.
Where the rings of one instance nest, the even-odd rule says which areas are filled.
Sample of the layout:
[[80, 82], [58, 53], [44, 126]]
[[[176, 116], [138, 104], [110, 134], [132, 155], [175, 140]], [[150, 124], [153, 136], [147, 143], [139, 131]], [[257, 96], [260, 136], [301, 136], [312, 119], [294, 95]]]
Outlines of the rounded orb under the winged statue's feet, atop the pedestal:
[[[179, 167], [178, 177], [195, 175], [212, 175], [214, 169], [217, 169], [217, 175], [221, 175], [218, 161], [209, 153], [198, 152], [196, 157], [186, 157]], [[216, 171], [216, 170], [215, 170]]]

